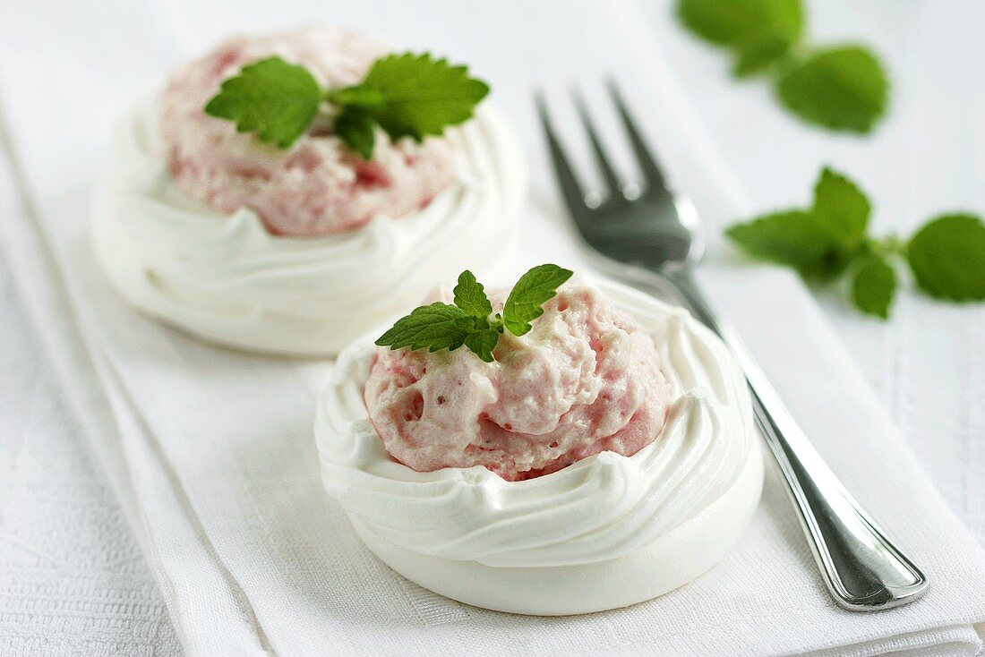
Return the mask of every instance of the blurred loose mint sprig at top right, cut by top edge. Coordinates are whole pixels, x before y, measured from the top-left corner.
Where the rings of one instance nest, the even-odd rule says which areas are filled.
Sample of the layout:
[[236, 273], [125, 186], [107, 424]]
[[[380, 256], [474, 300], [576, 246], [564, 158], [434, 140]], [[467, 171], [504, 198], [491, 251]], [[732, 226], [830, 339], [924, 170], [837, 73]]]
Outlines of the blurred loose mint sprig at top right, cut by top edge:
[[850, 43], [804, 43], [802, 0], [679, 0], [690, 32], [732, 53], [736, 77], [772, 78], [777, 98], [801, 120], [865, 134], [886, 113], [889, 83], [879, 58]]

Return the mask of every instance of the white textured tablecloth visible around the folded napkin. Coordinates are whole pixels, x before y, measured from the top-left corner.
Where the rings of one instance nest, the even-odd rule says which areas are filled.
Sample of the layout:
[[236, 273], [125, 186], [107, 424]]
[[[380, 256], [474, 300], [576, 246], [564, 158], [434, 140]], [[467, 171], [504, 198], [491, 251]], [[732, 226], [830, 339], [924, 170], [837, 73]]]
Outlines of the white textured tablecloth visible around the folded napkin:
[[[888, 63], [890, 116], [867, 139], [802, 127], [777, 108], [765, 84], [731, 81], [725, 56], [681, 31], [669, 3], [646, 5], [654, 38], [757, 209], [807, 203], [821, 164], [831, 164], [870, 193], [875, 230], [906, 234], [942, 211], [985, 212], [985, 83], [977, 68], [985, 10], [979, 3], [808, 3], [813, 40], [864, 39]], [[14, 185], [0, 180], [0, 212], [15, 202]], [[985, 540], [985, 307], [937, 303], [904, 286], [893, 318], [882, 323], [852, 310], [837, 286], [818, 296], [942, 493]], [[174, 653], [154, 579], [111, 494], [99, 485], [81, 433], [59, 410], [58, 391], [5, 270], [0, 322], [0, 368], [18, 373], [3, 379], [0, 394], [0, 652], [43, 645], [85, 654], [125, 645]], [[19, 513], [39, 508], [38, 500], [46, 513]], [[76, 540], [52, 545], [51, 529], [67, 522], [78, 528]], [[80, 565], [95, 582], [59, 576]], [[94, 583], [101, 600], [74, 595], [92, 591]], [[50, 602], [52, 587], [57, 603]], [[55, 606], [35, 609], [34, 593]]]

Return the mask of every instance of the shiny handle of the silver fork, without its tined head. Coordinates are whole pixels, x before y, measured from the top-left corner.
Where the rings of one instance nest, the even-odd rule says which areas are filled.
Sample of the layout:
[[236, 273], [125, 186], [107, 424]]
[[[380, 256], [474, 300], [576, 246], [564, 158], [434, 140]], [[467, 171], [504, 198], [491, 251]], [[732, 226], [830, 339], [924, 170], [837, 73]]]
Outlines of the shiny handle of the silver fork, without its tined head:
[[694, 317], [722, 338], [745, 371], [756, 424], [779, 466], [824, 584], [838, 605], [851, 611], [876, 611], [918, 598], [927, 587], [927, 577], [845, 491], [738, 333], [701, 294], [689, 268], [667, 277]]

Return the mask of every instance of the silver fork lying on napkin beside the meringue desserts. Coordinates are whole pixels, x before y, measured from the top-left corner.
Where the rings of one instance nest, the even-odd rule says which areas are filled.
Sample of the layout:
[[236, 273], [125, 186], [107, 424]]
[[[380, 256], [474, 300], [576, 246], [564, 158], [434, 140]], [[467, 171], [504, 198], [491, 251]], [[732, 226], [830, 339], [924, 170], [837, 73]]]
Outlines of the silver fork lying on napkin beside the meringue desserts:
[[[610, 96], [642, 172], [640, 189], [617, 173], [585, 103], [573, 93], [606, 197], [586, 195], [560, 146], [542, 94], [535, 96], [558, 186], [575, 227], [603, 260], [642, 267], [668, 281], [694, 317], [735, 353], [752, 392], [756, 424], [779, 466], [828, 591], [844, 609], [875, 611], [917, 599], [927, 577], [886, 538], [827, 467], [735, 330], [694, 281], [704, 242], [689, 200], [674, 192], [612, 82]], [[625, 270], [624, 270], [625, 271]]]

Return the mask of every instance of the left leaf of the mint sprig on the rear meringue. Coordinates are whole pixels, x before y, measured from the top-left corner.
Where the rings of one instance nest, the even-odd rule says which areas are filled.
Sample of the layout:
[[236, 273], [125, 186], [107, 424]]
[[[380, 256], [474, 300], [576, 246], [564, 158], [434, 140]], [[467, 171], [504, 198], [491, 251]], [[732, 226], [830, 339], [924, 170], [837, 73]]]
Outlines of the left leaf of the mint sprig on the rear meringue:
[[280, 57], [248, 64], [223, 82], [205, 105], [210, 116], [229, 119], [238, 132], [287, 149], [314, 118], [321, 102], [318, 82], [302, 66]]

